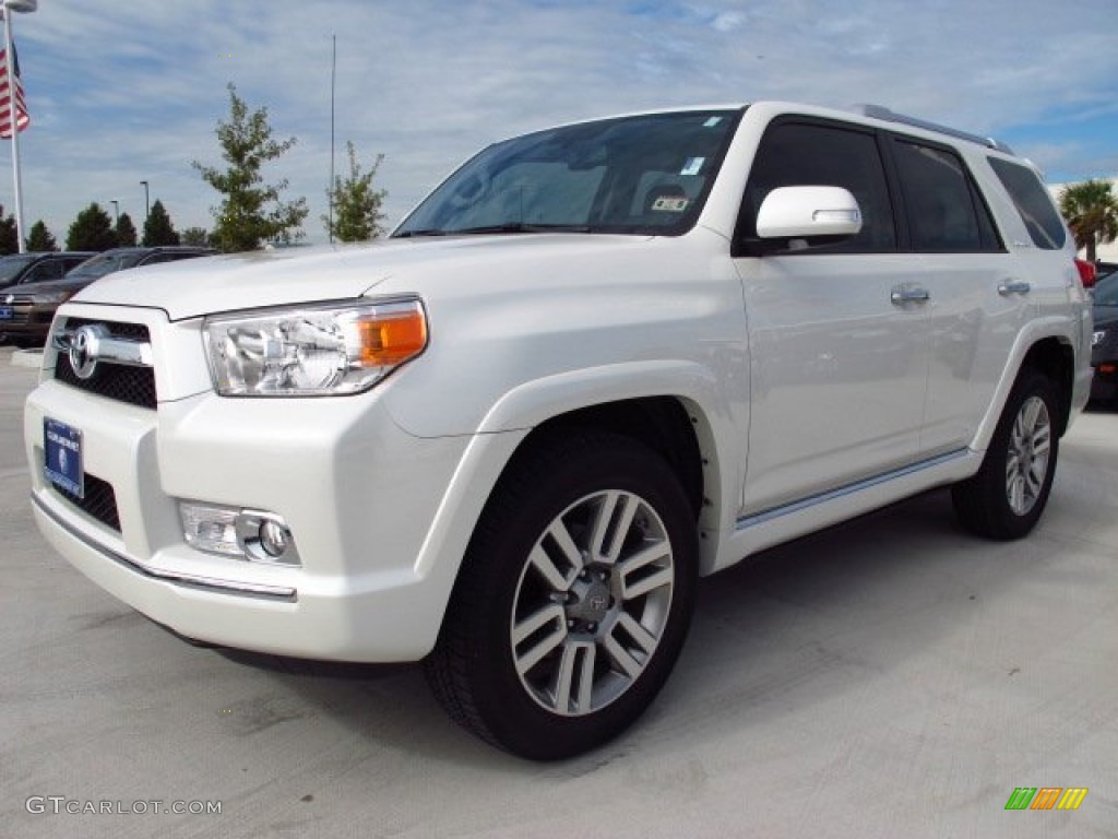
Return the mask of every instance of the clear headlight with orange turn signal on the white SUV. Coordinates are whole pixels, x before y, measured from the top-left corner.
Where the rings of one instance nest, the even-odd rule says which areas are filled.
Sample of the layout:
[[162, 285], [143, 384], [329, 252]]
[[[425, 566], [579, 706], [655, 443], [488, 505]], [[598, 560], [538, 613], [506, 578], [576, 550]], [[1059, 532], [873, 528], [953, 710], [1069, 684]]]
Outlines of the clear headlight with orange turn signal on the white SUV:
[[357, 394], [427, 346], [418, 300], [222, 314], [203, 329], [222, 396]]

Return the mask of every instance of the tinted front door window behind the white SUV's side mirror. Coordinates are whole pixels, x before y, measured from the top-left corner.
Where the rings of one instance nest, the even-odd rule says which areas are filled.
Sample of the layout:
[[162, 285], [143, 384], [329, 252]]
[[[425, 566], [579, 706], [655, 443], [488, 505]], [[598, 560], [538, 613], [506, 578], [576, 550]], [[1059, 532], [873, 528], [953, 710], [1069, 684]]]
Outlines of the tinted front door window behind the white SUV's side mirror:
[[[796, 122], [781, 122], [765, 132], [746, 187], [741, 234], [757, 236], [757, 210], [777, 187], [845, 187], [862, 210], [862, 230], [825, 252], [897, 249], [892, 202], [872, 133]], [[813, 252], [804, 252], [813, 253]]]

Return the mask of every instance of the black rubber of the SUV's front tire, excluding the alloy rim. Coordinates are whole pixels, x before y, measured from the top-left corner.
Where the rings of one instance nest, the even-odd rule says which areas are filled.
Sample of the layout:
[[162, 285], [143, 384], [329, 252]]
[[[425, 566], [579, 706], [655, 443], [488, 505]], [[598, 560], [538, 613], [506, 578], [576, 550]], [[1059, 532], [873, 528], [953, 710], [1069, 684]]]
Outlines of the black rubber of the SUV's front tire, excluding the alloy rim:
[[[679, 481], [644, 446], [624, 437], [605, 443], [595, 436], [595, 445], [553, 458], [546, 481], [524, 475], [494, 496], [464, 569], [482, 573], [487, 581], [471, 609], [477, 633], [470, 675], [475, 705], [502, 746], [537, 760], [585, 752], [628, 727], [666, 681], [693, 609], [697, 528]], [[600, 710], [565, 717], [546, 710], [527, 694], [513, 666], [510, 621], [529, 552], [544, 528], [571, 503], [603, 490], [632, 492], [661, 517], [673, 552], [672, 604], [660, 643], [637, 680]]]

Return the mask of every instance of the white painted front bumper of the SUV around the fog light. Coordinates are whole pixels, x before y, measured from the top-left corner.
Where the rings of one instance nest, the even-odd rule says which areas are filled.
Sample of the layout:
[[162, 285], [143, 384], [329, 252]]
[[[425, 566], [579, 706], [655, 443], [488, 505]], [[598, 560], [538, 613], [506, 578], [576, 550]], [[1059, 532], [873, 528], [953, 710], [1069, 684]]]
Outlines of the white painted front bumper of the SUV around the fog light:
[[[167, 355], [186, 348], [172, 366], [180, 384], [197, 383], [189, 368], [205, 368], [200, 337], [164, 340], [160, 319], [145, 315], [155, 355], [171, 364]], [[315, 659], [419, 659], [437, 638], [461, 555], [421, 557], [472, 439], [400, 430], [381, 405], [390, 381], [315, 399], [161, 392], [151, 411], [46, 376], [25, 411], [36, 520], [86, 576], [186, 637]], [[47, 417], [80, 430], [85, 472], [112, 488], [119, 529], [45, 479]], [[195, 550], [179, 500], [283, 516], [302, 566]]]

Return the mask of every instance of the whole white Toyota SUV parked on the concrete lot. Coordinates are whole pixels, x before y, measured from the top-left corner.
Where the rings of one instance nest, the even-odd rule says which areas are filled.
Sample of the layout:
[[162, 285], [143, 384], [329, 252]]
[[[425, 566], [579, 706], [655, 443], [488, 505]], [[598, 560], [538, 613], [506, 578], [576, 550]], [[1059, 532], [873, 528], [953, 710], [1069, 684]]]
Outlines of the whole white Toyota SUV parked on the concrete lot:
[[934, 487], [1026, 534], [1090, 387], [1035, 169], [883, 109], [498, 143], [389, 241], [125, 272], [27, 402], [36, 518], [186, 637], [426, 658], [533, 758], [664, 684], [695, 579]]

